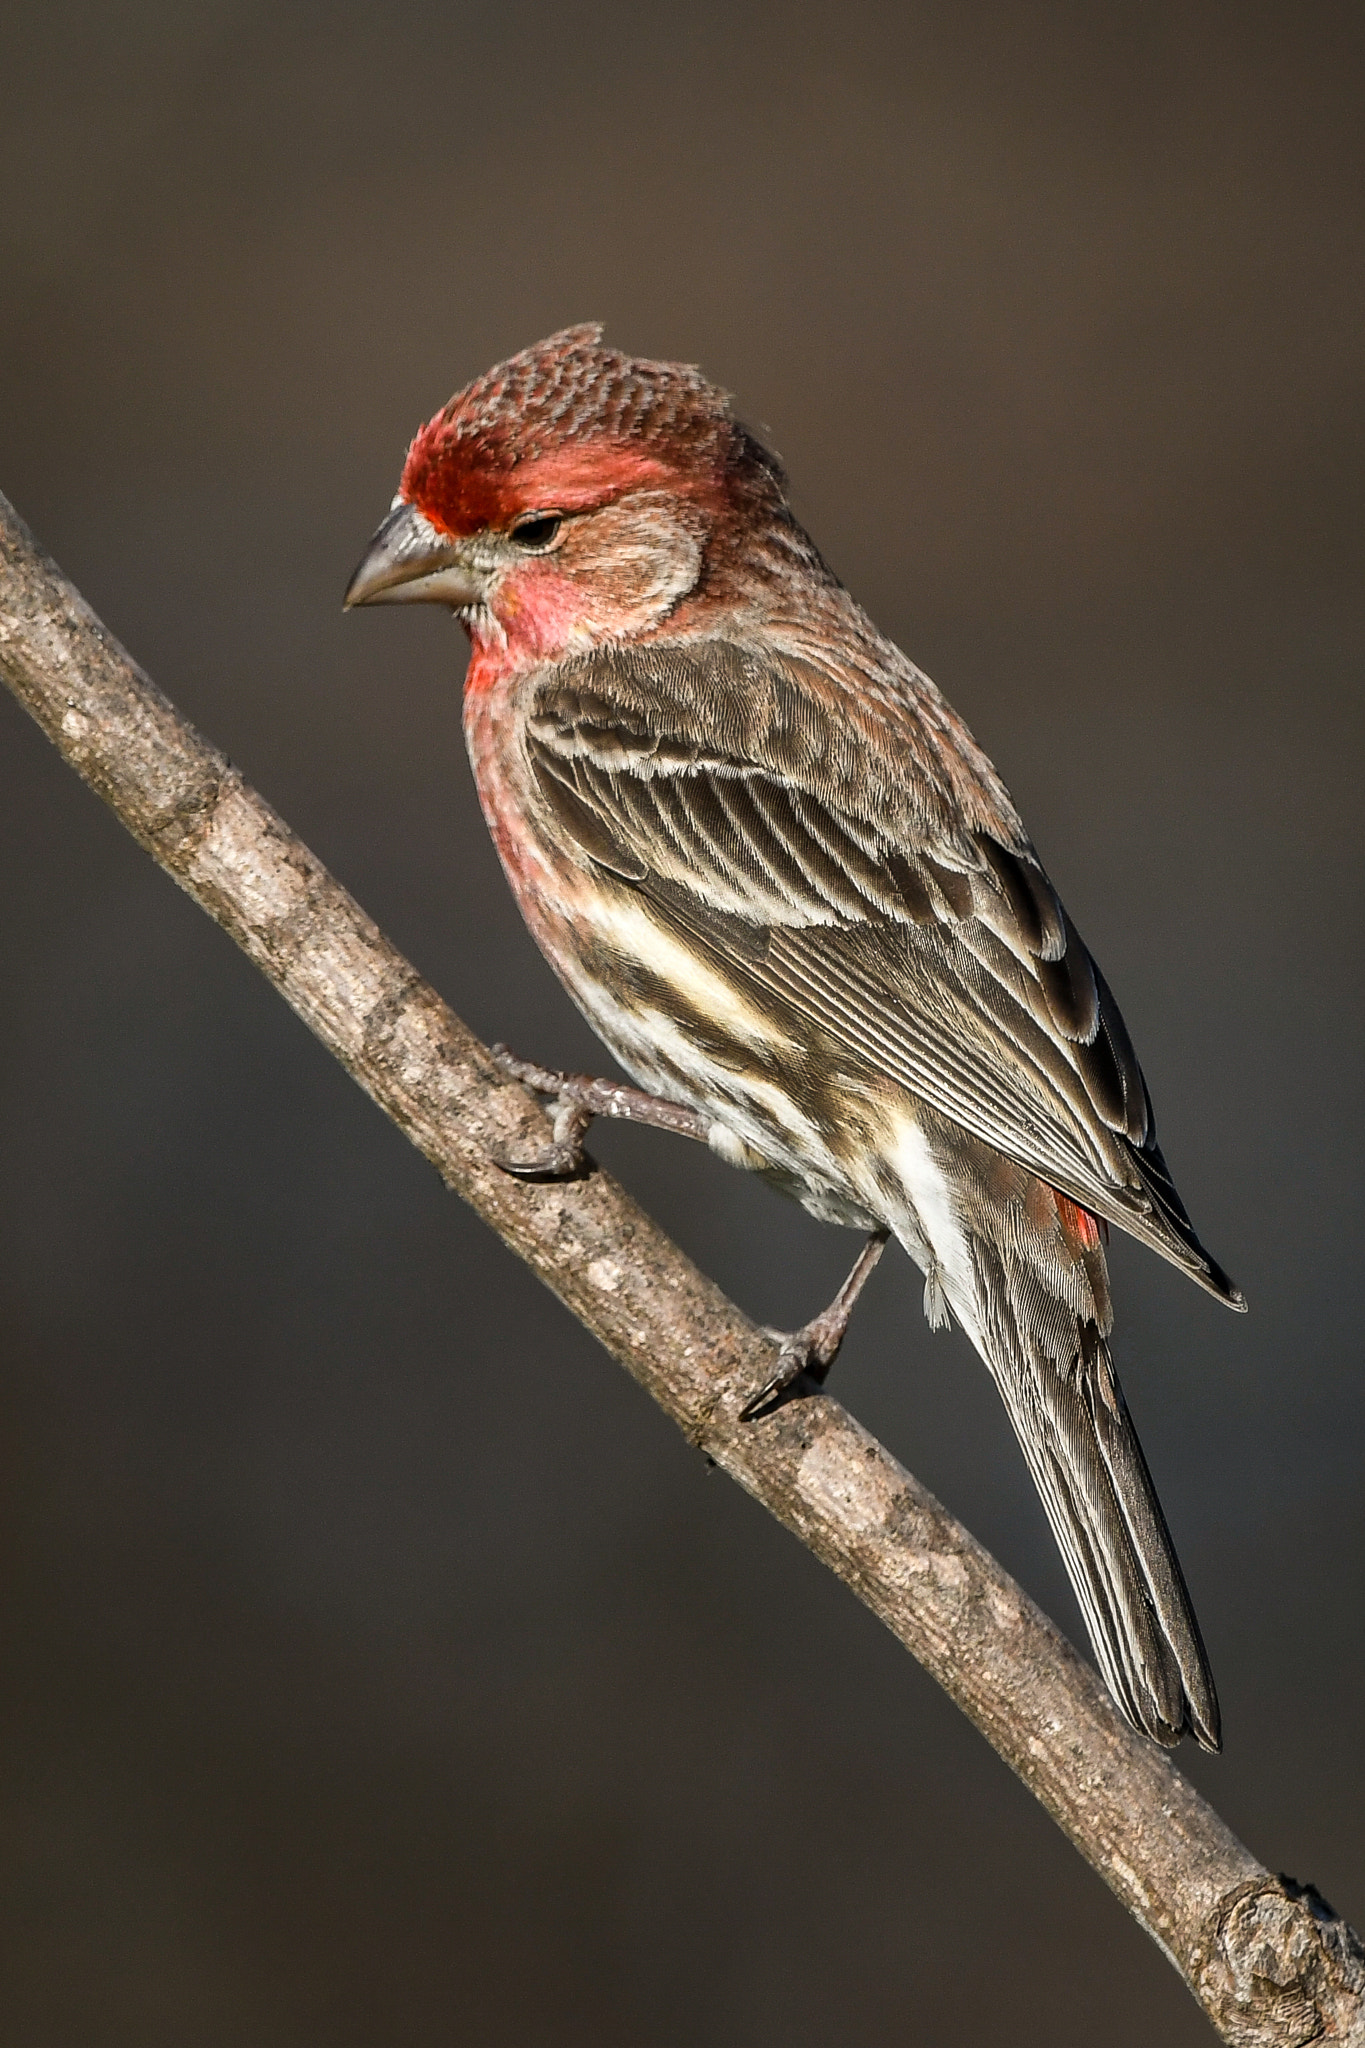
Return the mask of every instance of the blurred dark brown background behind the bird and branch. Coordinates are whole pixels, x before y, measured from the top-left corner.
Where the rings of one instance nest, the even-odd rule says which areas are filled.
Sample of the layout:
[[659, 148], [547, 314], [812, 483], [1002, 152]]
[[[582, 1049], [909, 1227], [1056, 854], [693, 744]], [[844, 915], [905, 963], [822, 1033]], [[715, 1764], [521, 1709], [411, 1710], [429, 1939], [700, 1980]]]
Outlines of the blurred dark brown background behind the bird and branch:
[[[524, 936], [407, 436], [571, 319], [700, 360], [995, 754], [1242, 1280], [1117, 1247], [1224, 1698], [1365, 1925], [1361, 14], [6, 10], [0, 487], [487, 1036]], [[25, 2048], [1199, 2042], [917, 1667], [0, 702], [0, 1937]], [[753, 1313], [851, 1239], [598, 1151]], [[837, 1391], [1072, 1630], [905, 1260]]]

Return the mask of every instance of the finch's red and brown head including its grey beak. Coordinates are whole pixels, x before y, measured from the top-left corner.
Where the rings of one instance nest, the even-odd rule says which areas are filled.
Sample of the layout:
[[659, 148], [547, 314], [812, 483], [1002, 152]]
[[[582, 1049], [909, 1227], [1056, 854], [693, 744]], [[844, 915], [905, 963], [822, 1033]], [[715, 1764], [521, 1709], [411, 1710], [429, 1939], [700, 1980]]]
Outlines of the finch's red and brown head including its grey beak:
[[555, 659], [657, 629], [720, 532], [774, 516], [782, 465], [724, 391], [567, 328], [417, 432], [346, 604], [448, 604], [477, 645]]

